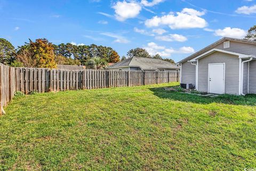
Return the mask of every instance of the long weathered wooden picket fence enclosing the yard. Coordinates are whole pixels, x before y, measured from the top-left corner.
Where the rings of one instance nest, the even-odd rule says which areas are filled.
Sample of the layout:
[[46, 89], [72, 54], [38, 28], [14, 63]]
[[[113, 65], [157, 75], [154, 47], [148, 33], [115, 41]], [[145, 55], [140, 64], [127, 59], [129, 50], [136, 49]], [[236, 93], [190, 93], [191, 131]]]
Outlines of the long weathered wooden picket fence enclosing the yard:
[[179, 81], [179, 73], [171, 71], [51, 70], [3, 64], [0, 67], [1, 112], [15, 91], [28, 94], [31, 91], [131, 87]]

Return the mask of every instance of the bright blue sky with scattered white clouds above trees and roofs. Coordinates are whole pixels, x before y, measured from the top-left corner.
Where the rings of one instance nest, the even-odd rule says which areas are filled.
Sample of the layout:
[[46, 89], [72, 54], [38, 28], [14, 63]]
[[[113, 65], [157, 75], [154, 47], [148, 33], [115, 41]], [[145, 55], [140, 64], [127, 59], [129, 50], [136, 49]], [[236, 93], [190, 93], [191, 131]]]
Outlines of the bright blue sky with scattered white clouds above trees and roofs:
[[243, 38], [256, 22], [256, 0], [0, 0], [0, 37], [96, 44], [120, 56], [146, 48], [178, 62], [221, 37]]

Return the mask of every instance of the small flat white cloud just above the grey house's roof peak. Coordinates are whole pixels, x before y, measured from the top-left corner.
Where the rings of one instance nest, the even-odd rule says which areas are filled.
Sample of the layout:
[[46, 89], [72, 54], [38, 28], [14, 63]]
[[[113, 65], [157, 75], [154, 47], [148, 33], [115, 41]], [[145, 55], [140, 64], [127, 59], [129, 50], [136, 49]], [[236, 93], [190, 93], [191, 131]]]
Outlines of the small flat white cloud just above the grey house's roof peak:
[[233, 37], [233, 38], [242, 39], [244, 38], [246, 33], [247, 32], [243, 29], [225, 27], [224, 29], [215, 30], [214, 35], [221, 36], [221, 37]]

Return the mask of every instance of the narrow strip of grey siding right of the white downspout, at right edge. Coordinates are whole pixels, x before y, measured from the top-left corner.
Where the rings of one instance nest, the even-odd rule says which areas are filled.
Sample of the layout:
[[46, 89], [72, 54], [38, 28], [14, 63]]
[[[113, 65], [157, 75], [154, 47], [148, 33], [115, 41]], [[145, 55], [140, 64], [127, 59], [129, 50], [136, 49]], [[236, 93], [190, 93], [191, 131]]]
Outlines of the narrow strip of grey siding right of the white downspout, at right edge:
[[256, 93], [256, 61], [249, 63], [249, 93]]

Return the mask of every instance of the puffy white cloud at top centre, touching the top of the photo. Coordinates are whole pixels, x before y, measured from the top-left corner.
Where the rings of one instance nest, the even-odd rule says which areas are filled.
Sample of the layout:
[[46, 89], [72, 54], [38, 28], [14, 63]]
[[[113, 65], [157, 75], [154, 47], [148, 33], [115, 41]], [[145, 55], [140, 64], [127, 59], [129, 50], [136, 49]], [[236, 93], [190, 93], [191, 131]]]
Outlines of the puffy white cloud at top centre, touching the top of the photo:
[[141, 11], [140, 4], [135, 2], [127, 3], [126, 1], [118, 1], [112, 8], [115, 9], [115, 16], [118, 21], [135, 18]]

